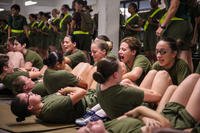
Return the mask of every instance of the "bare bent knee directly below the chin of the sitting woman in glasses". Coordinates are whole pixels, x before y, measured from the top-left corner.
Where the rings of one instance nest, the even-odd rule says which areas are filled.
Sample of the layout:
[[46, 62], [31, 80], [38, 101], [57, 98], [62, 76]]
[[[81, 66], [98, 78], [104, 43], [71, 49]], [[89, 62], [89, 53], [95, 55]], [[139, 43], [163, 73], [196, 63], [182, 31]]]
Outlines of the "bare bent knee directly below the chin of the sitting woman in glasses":
[[158, 71], [153, 80], [151, 90], [154, 90], [158, 92], [161, 96], [163, 96], [167, 87], [171, 84], [172, 84], [172, 80], [168, 72]]

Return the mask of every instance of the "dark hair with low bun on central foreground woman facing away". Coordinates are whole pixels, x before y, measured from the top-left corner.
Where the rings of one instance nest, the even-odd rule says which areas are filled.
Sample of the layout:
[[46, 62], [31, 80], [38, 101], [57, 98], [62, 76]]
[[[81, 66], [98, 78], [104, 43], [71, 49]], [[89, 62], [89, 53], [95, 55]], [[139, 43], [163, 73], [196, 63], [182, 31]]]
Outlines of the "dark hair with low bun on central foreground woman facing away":
[[105, 83], [118, 68], [119, 63], [115, 57], [103, 58], [97, 62], [97, 71], [94, 72], [93, 78], [98, 83]]

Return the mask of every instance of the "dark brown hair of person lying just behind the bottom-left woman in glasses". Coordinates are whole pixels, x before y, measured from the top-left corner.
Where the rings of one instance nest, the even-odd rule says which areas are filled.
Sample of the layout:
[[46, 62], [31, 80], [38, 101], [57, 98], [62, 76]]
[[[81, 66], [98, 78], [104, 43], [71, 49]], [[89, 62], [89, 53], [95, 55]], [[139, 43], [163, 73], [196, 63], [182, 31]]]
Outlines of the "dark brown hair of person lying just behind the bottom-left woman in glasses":
[[25, 81], [22, 80], [22, 77], [23, 77], [23, 76], [18, 76], [18, 77], [17, 77], [15, 80], [13, 80], [13, 82], [12, 82], [13, 93], [14, 93], [15, 95], [24, 92], [23, 87], [24, 87], [24, 85], [25, 85]]

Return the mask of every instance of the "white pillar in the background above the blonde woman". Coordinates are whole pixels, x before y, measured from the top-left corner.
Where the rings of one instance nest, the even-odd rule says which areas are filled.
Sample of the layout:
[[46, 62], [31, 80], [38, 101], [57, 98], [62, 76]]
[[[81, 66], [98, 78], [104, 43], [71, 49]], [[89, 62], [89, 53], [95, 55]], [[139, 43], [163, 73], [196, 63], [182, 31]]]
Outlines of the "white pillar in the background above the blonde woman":
[[119, 45], [120, 0], [98, 0], [98, 34], [107, 35], [113, 41], [113, 51], [117, 53]]

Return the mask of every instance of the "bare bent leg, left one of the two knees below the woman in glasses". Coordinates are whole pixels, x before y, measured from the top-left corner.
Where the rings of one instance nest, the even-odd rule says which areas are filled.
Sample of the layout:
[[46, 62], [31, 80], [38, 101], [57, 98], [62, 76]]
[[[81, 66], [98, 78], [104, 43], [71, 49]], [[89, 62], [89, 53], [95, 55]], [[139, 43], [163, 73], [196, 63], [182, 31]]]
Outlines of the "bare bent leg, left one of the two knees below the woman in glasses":
[[153, 83], [153, 80], [154, 80], [156, 74], [157, 74], [156, 70], [149, 71], [147, 73], [147, 75], [144, 77], [144, 79], [141, 82], [139, 87], [146, 88], [146, 89], [151, 89], [151, 86], [152, 86], [152, 83]]

